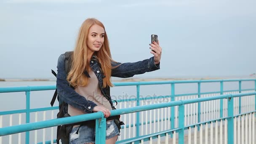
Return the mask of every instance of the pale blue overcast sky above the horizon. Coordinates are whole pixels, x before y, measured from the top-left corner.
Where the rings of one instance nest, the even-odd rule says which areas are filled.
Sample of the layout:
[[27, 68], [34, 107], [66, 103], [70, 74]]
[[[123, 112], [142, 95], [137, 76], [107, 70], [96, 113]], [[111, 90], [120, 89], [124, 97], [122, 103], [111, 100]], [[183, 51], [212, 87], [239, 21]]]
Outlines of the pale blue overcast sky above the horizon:
[[256, 72], [255, 0], [1, 0], [0, 78], [53, 78], [87, 18], [99, 19], [119, 62], [149, 59], [160, 70], [135, 77], [242, 77]]

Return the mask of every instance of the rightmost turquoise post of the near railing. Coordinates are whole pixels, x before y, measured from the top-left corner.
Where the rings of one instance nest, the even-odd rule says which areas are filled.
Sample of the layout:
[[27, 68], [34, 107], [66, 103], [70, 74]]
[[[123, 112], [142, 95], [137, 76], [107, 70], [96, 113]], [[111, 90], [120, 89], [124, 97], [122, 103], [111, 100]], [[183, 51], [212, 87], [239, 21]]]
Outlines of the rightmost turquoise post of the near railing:
[[[232, 94], [231, 94], [232, 96]], [[234, 144], [234, 98], [229, 98], [227, 102], [227, 126], [228, 126], [228, 144]]]

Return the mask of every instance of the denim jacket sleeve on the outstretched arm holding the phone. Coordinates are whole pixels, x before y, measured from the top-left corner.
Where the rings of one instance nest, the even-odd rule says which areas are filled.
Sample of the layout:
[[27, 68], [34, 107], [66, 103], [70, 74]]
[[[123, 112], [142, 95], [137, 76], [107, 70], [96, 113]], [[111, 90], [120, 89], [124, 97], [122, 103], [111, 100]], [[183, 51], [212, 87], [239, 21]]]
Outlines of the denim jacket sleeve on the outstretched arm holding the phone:
[[119, 65], [118, 67], [112, 69], [112, 77], [133, 77], [133, 75], [144, 74], [145, 72], [152, 72], [154, 70], [160, 69], [160, 63], [155, 64], [154, 56], [145, 59], [143, 61], [133, 62], [133, 63], [114, 63], [112, 62], [112, 67]]

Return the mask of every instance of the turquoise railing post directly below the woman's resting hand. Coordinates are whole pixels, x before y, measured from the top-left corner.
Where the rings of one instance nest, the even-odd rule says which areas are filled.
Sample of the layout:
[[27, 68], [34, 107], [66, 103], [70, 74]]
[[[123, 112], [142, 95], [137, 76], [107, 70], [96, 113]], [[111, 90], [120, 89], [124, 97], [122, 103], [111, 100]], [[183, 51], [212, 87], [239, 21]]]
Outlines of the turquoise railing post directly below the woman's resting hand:
[[95, 144], [106, 143], [106, 118], [96, 119], [96, 136]]

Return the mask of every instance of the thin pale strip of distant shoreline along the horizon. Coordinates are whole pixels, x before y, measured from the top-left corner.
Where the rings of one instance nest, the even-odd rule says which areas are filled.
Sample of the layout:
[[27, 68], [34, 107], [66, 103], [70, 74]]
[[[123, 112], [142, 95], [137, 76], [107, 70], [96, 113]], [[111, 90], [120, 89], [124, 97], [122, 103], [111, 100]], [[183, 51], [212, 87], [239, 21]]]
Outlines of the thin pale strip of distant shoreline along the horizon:
[[[125, 78], [125, 79], [112, 79], [112, 82], [136, 82], [136, 81], [172, 81], [172, 80], [222, 80], [222, 79], [256, 79], [256, 77], [191, 77], [191, 78]], [[56, 81], [56, 79], [1, 79], [5, 82], [22, 82], [22, 81]]]

